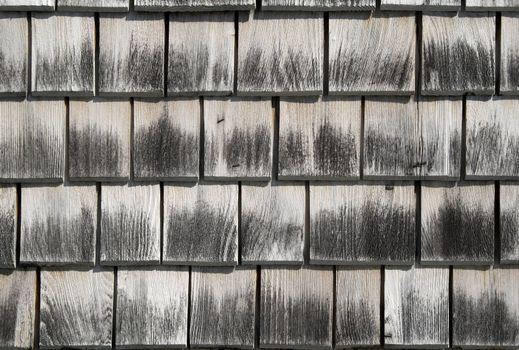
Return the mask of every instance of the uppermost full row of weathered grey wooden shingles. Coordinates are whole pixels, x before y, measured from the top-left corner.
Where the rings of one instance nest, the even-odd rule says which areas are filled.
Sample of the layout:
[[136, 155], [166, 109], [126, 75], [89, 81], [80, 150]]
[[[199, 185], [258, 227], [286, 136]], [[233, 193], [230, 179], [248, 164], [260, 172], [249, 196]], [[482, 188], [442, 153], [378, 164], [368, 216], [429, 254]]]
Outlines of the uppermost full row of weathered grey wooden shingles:
[[517, 14], [502, 15], [500, 52], [494, 13], [421, 18], [418, 47], [405, 12], [332, 13], [326, 33], [322, 12], [100, 14], [96, 45], [93, 13], [33, 13], [30, 35], [24, 13], [0, 13], [0, 94], [517, 94]]

